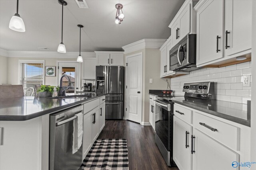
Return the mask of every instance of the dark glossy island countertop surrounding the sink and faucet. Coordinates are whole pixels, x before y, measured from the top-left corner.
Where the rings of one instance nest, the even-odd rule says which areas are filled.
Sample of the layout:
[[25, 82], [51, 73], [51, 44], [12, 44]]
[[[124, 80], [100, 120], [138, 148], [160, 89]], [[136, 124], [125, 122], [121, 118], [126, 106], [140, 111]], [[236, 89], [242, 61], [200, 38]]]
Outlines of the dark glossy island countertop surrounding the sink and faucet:
[[[74, 94], [69, 94], [74, 95]], [[87, 98], [20, 97], [0, 100], [0, 121], [25, 121], [94, 100], [105, 94], [92, 94]]]

